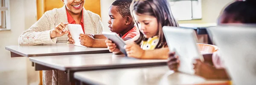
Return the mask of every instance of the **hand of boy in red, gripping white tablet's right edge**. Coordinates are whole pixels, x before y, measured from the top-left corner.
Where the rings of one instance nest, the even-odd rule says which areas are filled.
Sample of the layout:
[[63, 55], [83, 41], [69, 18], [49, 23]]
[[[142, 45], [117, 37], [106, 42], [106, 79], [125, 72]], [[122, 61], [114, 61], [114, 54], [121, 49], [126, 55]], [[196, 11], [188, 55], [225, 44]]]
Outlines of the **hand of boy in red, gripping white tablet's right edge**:
[[79, 36], [80, 36], [79, 39], [80, 39], [81, 45], [84, 45], [86, 47], [92, 47], [93, 46], [93, 44], [94, 44], [94, 38], [93, 37], [91, 37], [88, 34], [80, 34]]

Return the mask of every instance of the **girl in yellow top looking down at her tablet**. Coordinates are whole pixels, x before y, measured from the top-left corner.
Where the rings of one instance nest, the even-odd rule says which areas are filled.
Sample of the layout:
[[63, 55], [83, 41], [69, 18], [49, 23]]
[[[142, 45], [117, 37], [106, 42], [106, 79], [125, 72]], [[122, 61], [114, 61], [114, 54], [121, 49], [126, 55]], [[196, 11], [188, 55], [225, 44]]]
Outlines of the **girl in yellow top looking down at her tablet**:
[[[138, 59], [167, 59], [169, 49], [163, 35], [163, 26], [178, 26], [167, 0], [134, 0], [131, 14], [140, 29], [140, 35], [126, 41], [128, 57]], [[106, 40], [109, 51], [121, 54], [115, 43]]]

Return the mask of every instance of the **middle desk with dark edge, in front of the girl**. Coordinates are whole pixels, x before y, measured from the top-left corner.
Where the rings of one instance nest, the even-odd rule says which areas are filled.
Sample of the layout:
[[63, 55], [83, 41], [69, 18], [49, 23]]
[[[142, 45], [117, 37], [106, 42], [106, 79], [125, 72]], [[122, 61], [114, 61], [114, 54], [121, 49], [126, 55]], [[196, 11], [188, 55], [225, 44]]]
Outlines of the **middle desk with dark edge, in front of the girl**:
[[166, 65], [167, 62], [160, 59], [134, 59], [112, 53], [29, 57], [29, 59], [35, 63], [36, 71], [53, 69], [66, 71], [70, 81], [73, 80], [73, 73], [76, 71]]

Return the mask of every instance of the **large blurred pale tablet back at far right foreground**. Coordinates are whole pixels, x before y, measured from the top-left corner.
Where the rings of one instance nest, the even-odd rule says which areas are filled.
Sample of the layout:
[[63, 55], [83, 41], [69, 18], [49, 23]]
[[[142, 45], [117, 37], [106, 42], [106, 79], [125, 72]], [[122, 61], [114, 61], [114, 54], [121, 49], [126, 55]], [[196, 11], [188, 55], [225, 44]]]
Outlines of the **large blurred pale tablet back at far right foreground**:
[[[240, 25], [240, 24], [239, 24]], [[220, 48], [220, 58], [234, 85], [256, 84], [256, 26], [250, 24], [208, 28]]]

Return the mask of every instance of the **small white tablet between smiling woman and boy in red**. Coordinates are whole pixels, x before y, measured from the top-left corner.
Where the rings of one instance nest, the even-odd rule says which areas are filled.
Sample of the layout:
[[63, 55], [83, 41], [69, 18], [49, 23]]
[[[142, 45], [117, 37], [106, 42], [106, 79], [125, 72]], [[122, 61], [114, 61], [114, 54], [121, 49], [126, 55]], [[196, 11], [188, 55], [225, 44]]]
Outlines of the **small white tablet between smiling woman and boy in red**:
[[79, 34], [84, 34], [84, 31], [80, 24], [68, 24], [67, 28], [70, 31], [70, 34], [72, 36], [72, 39], [74, 40], [76, 46], [86, 47], [84, 45], [81, 45], [81, 42], [79, 40]]

